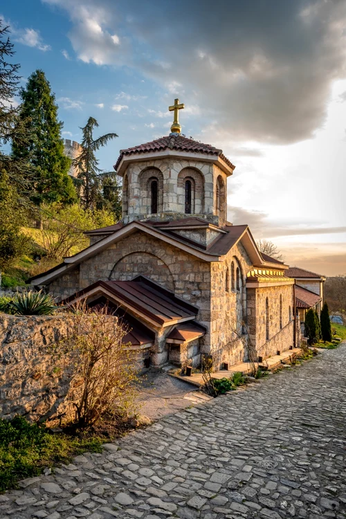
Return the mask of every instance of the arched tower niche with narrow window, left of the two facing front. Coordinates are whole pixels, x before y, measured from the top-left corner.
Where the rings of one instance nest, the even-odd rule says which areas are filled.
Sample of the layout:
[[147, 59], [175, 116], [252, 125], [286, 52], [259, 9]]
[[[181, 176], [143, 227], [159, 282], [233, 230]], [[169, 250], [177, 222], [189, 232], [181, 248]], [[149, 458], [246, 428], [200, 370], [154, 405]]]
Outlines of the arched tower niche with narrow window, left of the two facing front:
[[163, 212], [163, 174], [158, 167], [147, 167], [138, 176], [140, 186], [140, 213], [152, 214], [153, 183], [156, 183], [156, 212]]

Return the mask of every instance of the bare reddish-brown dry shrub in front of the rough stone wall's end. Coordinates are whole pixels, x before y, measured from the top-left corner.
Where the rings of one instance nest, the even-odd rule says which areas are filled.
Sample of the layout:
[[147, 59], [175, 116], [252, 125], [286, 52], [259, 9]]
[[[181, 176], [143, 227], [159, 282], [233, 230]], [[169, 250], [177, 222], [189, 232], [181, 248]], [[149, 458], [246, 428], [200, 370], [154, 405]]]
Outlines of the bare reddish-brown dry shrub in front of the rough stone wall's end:
[[93, 426], [103, 417], [129, 417], [134, 413], [137, 368], [131, 344], [124, 344], [127, 329], [107, 307], [73, 308], [73, 324], [55, 345], [57, 365], [71, 372], [67, 396], [79, 427]]

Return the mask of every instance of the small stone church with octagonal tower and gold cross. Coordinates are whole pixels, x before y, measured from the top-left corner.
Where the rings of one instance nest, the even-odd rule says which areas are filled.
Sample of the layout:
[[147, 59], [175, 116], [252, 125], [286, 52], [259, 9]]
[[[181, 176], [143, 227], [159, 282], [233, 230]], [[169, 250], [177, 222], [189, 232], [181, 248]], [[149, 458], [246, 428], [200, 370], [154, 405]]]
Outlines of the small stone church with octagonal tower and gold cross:
[[246, 224], [227, 221], [235, 169], [221, 149], [181, 134], [122, 149], [122, 219], [91, 230], [89, 247], [31, 278], [57, 301], [107, 304], [148, 365], [215, 369], [251, 352], [295, 347], [295, 280], [258, 250]]

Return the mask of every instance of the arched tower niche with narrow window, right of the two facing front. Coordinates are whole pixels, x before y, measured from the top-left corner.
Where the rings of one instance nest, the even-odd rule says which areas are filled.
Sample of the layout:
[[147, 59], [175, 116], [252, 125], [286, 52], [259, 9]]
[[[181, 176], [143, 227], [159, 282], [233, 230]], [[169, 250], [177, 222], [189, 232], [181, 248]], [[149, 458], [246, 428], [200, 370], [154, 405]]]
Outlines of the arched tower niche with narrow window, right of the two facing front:
[[[191, 183], [191, 212], [185, 208], [185, 183]], [[177, 183], [178, 206], [185, 214], [201, 215], [204, 210], [204, 176], [194, 167], [184, 167], [178, 174]]]

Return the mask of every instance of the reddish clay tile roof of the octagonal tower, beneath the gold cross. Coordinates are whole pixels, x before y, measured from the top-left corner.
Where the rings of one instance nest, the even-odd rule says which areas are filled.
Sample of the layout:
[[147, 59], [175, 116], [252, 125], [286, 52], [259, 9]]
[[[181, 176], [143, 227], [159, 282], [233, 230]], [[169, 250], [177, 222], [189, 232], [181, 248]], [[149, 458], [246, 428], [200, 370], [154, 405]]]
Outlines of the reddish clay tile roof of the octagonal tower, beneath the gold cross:
[[149, 143], [140, 144], [127, 149], [120, 149], [120, 155], [114, 169], [117, 170], [124, 156], [139, 153], [161, 152], [163, 149], [176, 149], [179, 152], [203, 153], [207, 155], [218, 155], [232, 169], [235, 166], [222, 153], [222, 149], [217, 149], [210, 144], [199, 143], [198, 140], [188, 139], [181, 135], [169, 135], [152, 140]]

